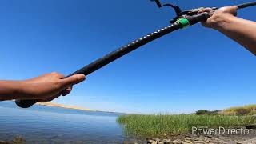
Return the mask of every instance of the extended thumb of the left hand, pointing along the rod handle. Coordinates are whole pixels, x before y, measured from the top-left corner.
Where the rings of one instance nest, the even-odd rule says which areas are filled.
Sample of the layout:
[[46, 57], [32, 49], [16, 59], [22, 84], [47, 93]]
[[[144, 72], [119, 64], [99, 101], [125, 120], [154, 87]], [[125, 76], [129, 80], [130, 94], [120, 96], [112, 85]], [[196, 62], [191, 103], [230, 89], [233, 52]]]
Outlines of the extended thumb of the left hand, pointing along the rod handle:
[[86, 79], [84, 74], [75, 74], [68, 78], [64, 78], [61, 80], [62, 86], [73, 86], [78, 84]]

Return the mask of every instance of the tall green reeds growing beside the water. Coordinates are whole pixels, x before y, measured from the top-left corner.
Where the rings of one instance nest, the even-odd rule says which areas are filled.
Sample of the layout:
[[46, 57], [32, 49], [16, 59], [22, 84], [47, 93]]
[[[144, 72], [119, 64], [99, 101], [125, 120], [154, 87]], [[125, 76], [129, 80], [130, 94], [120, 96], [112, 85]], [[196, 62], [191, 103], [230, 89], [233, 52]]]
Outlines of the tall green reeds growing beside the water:
[[225, 115], [122, 115], [117, 122], [123, 126], [126, 134], [156, 136], [161, 134], [190, 133], [192, 126], [210, 128], [246, 126], [256, 123], [252, 116]]

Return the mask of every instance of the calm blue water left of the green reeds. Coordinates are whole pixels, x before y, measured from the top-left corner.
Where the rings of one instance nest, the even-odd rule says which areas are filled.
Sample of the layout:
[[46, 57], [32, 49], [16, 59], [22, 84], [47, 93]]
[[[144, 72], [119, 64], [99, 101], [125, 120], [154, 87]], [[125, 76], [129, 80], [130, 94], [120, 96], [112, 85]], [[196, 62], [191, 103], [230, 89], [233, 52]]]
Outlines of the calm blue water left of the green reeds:
[[125, 140], [118, 114], [50, 106], [18, 108], [0, 102], [0, 140], [22, 136], [26, 143], [118, 143]]

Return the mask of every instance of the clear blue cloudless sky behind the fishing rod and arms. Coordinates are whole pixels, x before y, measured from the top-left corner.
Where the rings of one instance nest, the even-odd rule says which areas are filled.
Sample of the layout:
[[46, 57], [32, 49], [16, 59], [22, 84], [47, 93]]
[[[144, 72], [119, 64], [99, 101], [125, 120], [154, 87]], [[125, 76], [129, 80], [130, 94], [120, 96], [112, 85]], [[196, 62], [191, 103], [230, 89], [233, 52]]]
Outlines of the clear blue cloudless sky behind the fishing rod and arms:
[[[165, 1], [166, 2], [166, 1]], [[170, 2], [170, 1], [169, 1]], [[250, 1], [171, 1], [190, 9]], [[255, 7], [239, 16], [256, 20]], [[149, 0], [0, 1], [0, 79], [70, 74], [174, 17]], [[256, 103], [256, 57], [201, 25], [179, 30], [90, 74], [54, 102], [137, 113]]]

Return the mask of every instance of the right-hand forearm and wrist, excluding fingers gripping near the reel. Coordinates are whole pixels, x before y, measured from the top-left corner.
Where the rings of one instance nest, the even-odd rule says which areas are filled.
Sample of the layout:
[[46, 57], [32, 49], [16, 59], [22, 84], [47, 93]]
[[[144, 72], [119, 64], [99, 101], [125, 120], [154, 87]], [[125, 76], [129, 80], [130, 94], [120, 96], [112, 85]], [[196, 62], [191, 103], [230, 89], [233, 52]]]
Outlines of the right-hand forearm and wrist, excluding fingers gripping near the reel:
[[216, 23], [214, 29], [232, 38], [256, 55], [256, 22], [230, 16]]

